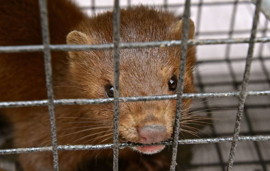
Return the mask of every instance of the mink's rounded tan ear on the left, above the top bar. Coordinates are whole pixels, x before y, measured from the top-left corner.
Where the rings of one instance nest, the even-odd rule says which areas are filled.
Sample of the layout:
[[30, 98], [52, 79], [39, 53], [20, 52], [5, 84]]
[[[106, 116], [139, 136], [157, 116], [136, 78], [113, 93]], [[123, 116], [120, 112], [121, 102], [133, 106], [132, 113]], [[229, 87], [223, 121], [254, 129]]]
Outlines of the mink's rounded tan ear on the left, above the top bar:
[[66, 37], [67, 44], [90, 44], [90, 38], [82, 32], [72, 31]]

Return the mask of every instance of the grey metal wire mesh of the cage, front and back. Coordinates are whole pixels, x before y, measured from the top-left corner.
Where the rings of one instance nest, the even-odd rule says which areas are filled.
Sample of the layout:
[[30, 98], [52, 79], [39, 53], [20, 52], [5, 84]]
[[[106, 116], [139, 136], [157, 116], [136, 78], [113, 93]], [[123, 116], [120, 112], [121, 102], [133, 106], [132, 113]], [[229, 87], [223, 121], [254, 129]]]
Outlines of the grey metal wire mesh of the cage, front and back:
[[[98, 6], [95, 6], [95, 1], [92, 0], [92, 12], [95, 15], [95, 10], [99, 9]], [[203, 2], [200, 0], [198, 3], [190, 4], [189, 0], [186, 0], [185, 4], [168, 4], [166, 0], [164, 0], [164, 8], [168, 7], [176, 7], [176, 6], [185, 6], [185, 14], [184, 14], [184, 28], [183, 35], [187, 34], [188, 28], [188, 18], [189, 18], [189, 10], [190, 6], [198, 6], [198, 18], [197, 21], [197, 35], [199, 34], [207, 34], [206, 32], [198, 32], [200, 27], [200, 13], [202, 5], [225, 5], [231, 4], [232, 2]], [[227, 170], [232, 170], [233, 163], [235, 165], [243, 164], [245, 162], [233, 162], [234, 155], [236, 152], [236, 145], [238, 141], [254, 141], [254, 144], [257, 149], [257, 154], [259, 156], [260, 161], [254, 163], [260, 163], [264, 170], [266, 169], [266, 163], [270, 163], [270, 161], [263, 160], [261, 152], [259, 150], [259, 145], [256, 141], [269, 141], [270, 135], [256, 135], [257, 132], [252, 130], [251, 122], [247, 117], [247, 121], [249, 123], [249, 131], [252, 132], [252, 136], [239, 136], [240, 123], [242, 115], [248, 115], [247, 112], [243, 113], [245, 98], [247, 96], [256, 96], [256, 95], [270, 95], [270, 90], [266, 91], [247, 91], [248, 85], [248, 77], [250, 72], [250, 65], [252, 62], [252, 54], [254, 49], [254, 43], [256, 42], [270, 42], [270, 37], [266, 36], [267, 33], [267, 22], [265, 25], [265, 29], [262, 30], [264, 33], [262, 37], [256, 37], [257, 31], [257, 23], [258, 23], [258, 15], [259, 8], [261, 4], [261, 0], [257, 1], [256, 10], [254, 15], [254, 22], [252, 26], [252, 34], [250, 38], [238, 38], [233, 39], [232, 34], [237, 32], [233, 30], [235, 23], [235, 13], [237, 11], [237, 4], [245, 4], [250, 3], [249, 1], [234, 1], [233, 13], [231, 16], [230, 23], [230, 31], [228, 39], [194, 39], [187, 40], [187, 37], [183, 36], [182, 40], [171, 40], [171, 41], [161, 41], [161, 42], [136, 42], [136, 43], [120, 43], [119, 42], [119, 22], [120, 22], [120, 7], [119, 2], [116, 0], [114, 2], [114, 42], [113, 44], [100, 44], [100, 45], [52, 45], [49, 43], [49, 29], [48, 29], [48, 14], [46, 8], [46, 0], [39, 0], [39, 8], [40, 8], [40, 18], [41, 18], [41, 26], [42, 26], [42, 37], [43, 44], [42, 45], [27, 45], [27, 46], [0, 46], [0, 53], [11, 53], [11, 52], [34, 52], [34, 51], [42, 51], [44, 53], [44, 64], [45, 64], [45, 73], [46, 73], [46, 87], [47, 87], [47, 100], [34, 100], [34, 101], [20, 101], [20, 102], [0, 102], [0, 107], [26, 107], [26, 106], [48, 106], [49, 114], [50, 114], [50, 131], [52, 138], [52, 146], [46, 147], [33, 147], [33, 148], [16, 148], [16, 149], [0, 149], [0, 154], [14, 154], [14, 153], [28, 153], [28, 152], [40, 152], [40, 151], [52, 151], [53, 152], [53, 168], [54, 170], [58, 170], [58, 150], [96, 150], [96, 149], [108, 149], [113, 148], [113, 169], [118, 170], [118, 148], [131, 147], [131, 146], [147, 146], [149, 144], [134, 144], [134, 143], [119, 143], [118, 142], [118, 124], [119, 124], [119, 102], [134, 102], [134, 101], [149, 101], [149, 100], [165, 100], [165, 99], [177, 99], [177, 112], [176, 112], [176, 120], [174, 127], [174, 138], [173, 140], [154, 143], [157, 145], [168, 145], [173, 144], [173, 156], [171, 161], [170, 170], [175, 170], [175, 161], [176, 161], [176, 153], [177, 153], [177, 145], [178, 144], [205, 144], [205, 143], [216, 143], [216, 148], [218, 152], [218, 156], [220, 158], [220, 162], [212, 165], [221, 166], [223, 170], [225, 165], [228, 165]], [[130, 6], [131, 2], [128, 1], [128, 6]], [[89, 7], [87, 7], [89, 8]], [[111, 8], [103, 6], [105, 8]], [[86, 7], [84, 7], [86, 9]], [[239, 32], [239, 31], [238, 31]], [[241, 31], [241, 32], [248, 32]], [[218, 34], [218, 33], [217, 33]], [[186, 47], [187, 45], [203, 45], [203, 44], [227, 44], [226, 54], [228, 57], [230, 53], [230, 45], [235, 43], [249, 43], [249, 51], [246, 62], [245, 69], [245, 77], [243, 82], [237, 82], [234, 78], [234, 71], [231, 67], [230, 61], [237, 60], [245, 60], [242, 58], [230, 59], [228, 58], [224, 60], [208, 60], [207, 62], [228, 62], [228, 67], [230, 68], [230, 74], [233, 78], [233, 83], [235, 88], [238, 87], [239, 84], [242, 84], [241, 91], [235, 92], [223, 92], [223, 93], [183, 93], [183, 75], [185, 65], [180, 66], [180, 76], [179, 76], [179, 84], [178, 84], [178, 93], [177, 95], [157, 95], [157, 96], [139, 96], [139, 97], [119, 97], [119, 49], [120, 48], [141, 48], [141, 47], [170, 47], [170, 46], [181, 46], [181, 58], [180, 64], [185, 64], [185, 56], [186, 56]], [[263, 48], [261, 46], [261, 48]], [[70, 51], [70, 50], [105, 50], [105, 49], [113, 49], [114, 50], [114, 98], [107, 99], [53, 99], [53, 90], [52, 90], [52, 70], [50, 64], [50, 51]], [[262, 50], [261, 50], [262, 51]], [[261, 66], [263, 68], [264, 74], [266, 75], [267, 81], [270, 83], [269, 73], [267, 72], [266, 66], [264, 64], [264, 60], [268, 60], [269, 58], [262, 58], [260, 54], [258, 58], [254, 58], [253, 60], [258, 60], [261, 62]], [[203, 63], [204, 61], [197, 61], [198, 63]], [[200, 79], [200, 75], [198, 74], [198, 78]], [[215, 84], [215, 83], [213, 83]], [[200, 90], [203, 92], [203, 84], [199, 82]], [[221, 137], [221, 138], [197, 138], [197, 139], [183, 139], [178, 140], [178, 131], [179, 130], [179, 121], [181, 116], [181, 101], [185, 98], [209, 98], [209, 97], [239, 97], [239, 106], [237, 119], [235, 124], [235, 133], [233, 137]], [[55, 127], [55, 116], [54, 116], [54, 105], [73, 105], [73, 104], [99, 104], [99, 103], [114, 103], [114, 138], [113, 144], [102, 144], [102, 145], [57, 145], [56, 140], [56, 127]], [[208, 106], [208, 105], [206, 105]], [[269, 107], [269, 106], [268, 106]], [[207, 107], [206, 107], [207, 108]], [[212, 132], [214, 137], [216, 135], [215, 132]], [[261, 133], [261, 132], [260, 132]], [[248, 134], [248, 133], [247, 133]], [[265, 134], [269, 134], [269, 132], [265, 132]], [[232, 148], [230, 153], [230, 158], [228, 163], [224, 163], [220, 151], [220, 147], [218, 143], [220, 142], [232, 142]], [[153, 145], [153, 144], [151, 144]], [[210, 164], [211, 165], [211, 164]], [[195, 165], [193, 165], [195, 166]], [[202, 166], [202, 165], [200, 165]], [[208, 165], [209, 166], [209, 165]]]

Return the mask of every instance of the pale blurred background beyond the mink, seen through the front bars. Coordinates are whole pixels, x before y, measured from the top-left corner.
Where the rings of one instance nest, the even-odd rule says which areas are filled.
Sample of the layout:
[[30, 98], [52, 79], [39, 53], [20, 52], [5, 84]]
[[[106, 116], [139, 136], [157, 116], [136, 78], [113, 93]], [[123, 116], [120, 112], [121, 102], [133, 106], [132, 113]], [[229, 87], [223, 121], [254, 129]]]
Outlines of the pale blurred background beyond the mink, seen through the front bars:
[[[113, 0], [73, 0], [88, 15], [112, 10]], [[183, 0], [120, 0], [122, 8], [134, 5], [166, 8], [176, 16], [184, 12]], [[196, 39], [249, 38], [255, 5], [250, 0], [191, 0], [191, 19]], [[269, 20], [261, 13], [257, 37], [270, 36]], [[197, 92], [233, 92], [241, 88], [248, 44], [197, 46], [194, 78]], [[270, 43], [256, 43], [248, 90], [270, 90]], [[232, 137], [237, 97], [195, 99], [194, 110], [212, 116], [213, 125], [199, 132], [200, 138]], [[240, 135], [270, 135], [270, 96], [248, 96]], [[1, 139], [0, 139], [1, 140]], [[225, 171], [231, 143], [193, 145], [193, 158], [186, 170]], [[181, 151], [179, 151], [181, 153]], [[0, 158], [1, 160], [1, 158]], [[2, 162], [2, 165], [13, 163]], [[1, 161], [0, 161], [1, 166]], [[270, 170], [270, 142], [238, 142], [234, 170]], [[0, 169], [1, 170], [1, 169]]]

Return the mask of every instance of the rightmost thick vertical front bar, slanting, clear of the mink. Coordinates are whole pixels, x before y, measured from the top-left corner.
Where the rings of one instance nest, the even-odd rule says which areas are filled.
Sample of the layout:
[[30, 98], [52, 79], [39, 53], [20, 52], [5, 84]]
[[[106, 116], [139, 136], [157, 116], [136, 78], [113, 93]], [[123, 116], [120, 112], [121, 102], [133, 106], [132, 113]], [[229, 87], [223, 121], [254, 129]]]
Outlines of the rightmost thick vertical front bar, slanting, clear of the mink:
[[235, 121], [234, 135], [232, 138], [232, 145], [231, 145], [231, 151], [230, 151], [230, 156], [228, 160], [227, 171], [232, 170], [232, 165], [234, 162], [235, 150], [236, 150], [239, 132], [240, 132], [241, 119], [243, 116], [244, 104], [247, 97], [247, 86], [248, 86], [248, 80], [249, 80], [249, 75], [250, 75], [251, 62], [252, 62], [261, 2], [262, 2], [261, 0], [257, 0], [256, 2], [255, 15], [254, 15], [253, 26], [251, 30], [250, 41], [249, 41], [248, 55], [247, 55], [247, 60], [246, 60], [242, 89], [239, 95], [239, 105], [238, 105], [238, 111], [237, 111], [237, 116], [236, 116], [236, 121]]

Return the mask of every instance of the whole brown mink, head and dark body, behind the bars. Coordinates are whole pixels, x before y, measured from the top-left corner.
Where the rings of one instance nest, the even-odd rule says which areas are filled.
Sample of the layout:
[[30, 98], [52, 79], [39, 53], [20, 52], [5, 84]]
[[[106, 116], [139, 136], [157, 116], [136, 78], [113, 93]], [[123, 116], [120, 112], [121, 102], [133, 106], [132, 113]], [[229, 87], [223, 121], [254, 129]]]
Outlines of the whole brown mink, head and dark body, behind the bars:
[[[51, 44], [106, 44], [113, 42], [112, 12], [89, 18], [68, 0], [48, 0]], [[167, 11], [144, 6], [121, 10], [120, 41], [180, 40], [183, 20]], [[36, 0], [2, 1], [0, 45], [42, 44]], [[189, 39], [194, 38], [190, 20]], [[113, 50], [52, 52], [55, 99], [107, 98], [113, 96]], [[120, 96], [175, 94], [180, 47], [120, 50]], [[195, 48], [188, 47], [184, 93], [193, 93]], [[0, 54], [0, 101], [46, 99], [42, 53]], [[188, 123], [191, 99], [183, 100], [182, 127]], [[128, 102], [119, 105], [120, 142], [152, 143], [170, 139], [176, 100]], [[48, 108], [2, 108], [11, 123], [14, 148], [50, 145]], [[58, 145], [112, 143], [113, 104], [55, 106]], [[163, 146], [133, 148], [143, 154], [160, 152]], [[96, 158], [90, 170], [107, 170], [99, 161], [112, 158], [112, 150], [59, 151], [60, 170], [80, 170]], [[139, 155], [120, 151], [120, 170], [164, 170], [170, 154]], [[129, 159], [128, 159], [129, 158]], [[187, 156], [185, 156], [187, 158]], [[122, 160], [123, 159], [123, 160]], [[151, 160], [151, 161], [150, 161]], [[51, 152], [18, 155], [24, 170], [52, 170]], [[122, 162], [123, 161], [123, 162]], [[122, 162], [122, 163], [121, 163]], [[122, 164], [122, 165], [121, 165]], [[97, 169], [99, 166], [100, 169]], [[89, 170], [89, 169], [88, 169]]]

